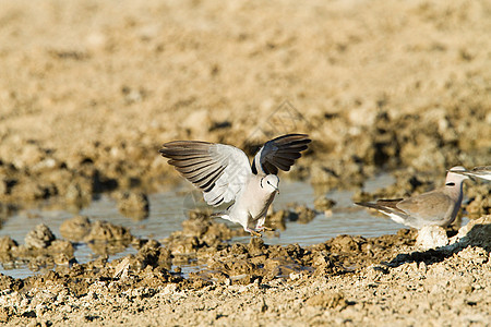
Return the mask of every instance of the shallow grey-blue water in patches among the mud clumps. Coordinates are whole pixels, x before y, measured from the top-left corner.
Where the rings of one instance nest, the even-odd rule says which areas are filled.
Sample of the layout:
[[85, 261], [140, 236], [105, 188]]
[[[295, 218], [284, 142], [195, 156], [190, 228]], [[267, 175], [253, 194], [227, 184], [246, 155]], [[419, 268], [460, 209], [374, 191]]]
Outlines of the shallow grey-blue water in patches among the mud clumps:
[[[367, 181], [364, 190], [374, 191], [378, 187], [387, 186], [394, 182], [390, 174], [382, 174], [375, 179]], [[181, 191], [171, 191], [149, 195], [149, 216], [147, 219], [137, 221], [122, 216], [117, 208], [117, 203], [112, 198], [103, 195], [94, 201], [88, 207], [82, 209], [80, 215], [88, 216], [92, 221], [107, 220], [115, 225], [129, 228], [131, 233], [140, 238], [151, 238], [161, 240], [172, 231], [181, 229], [181, 222], [185, 220], [185, 213], [196, 204], [191, 193], [192, 187], [188, 184], [179, 187]], [[182, 191], [183, 190], [183, 191]], [[363, 237], [379, 237], [382, 234], [395, 233], [403, 226], [393, 222], [388, 218], [371, 216], [368, 210], [359, 208], [352, 204], [351, 191], [332, 191], [326, 194], [328, 198], [336, 202], [333, 214], [328, 217], [323, 213], [319, 214], [311, 222], [302, 225], [298, 222], [287, 222], [286, 230], [279, 232], [279, 237], [267, 238], [267, 244], [290, 244], [298, 243], [302, 246], [324, 242], [338, 234], [352, 234]], [[286, 208], [288, 204], [298, 203], [313, 208], [314, 191], [309, 183], [283, 181], [280, 193], [274, 202], [274, 209]], [[17, 243], [24, 243], [24, 238], [38, 223], [46, 223], [57, 238], [61, 238], [59, 228], [63, 220], [74, 215], [64, 210], [29, 209], [21, 211], [10, 217], [0, 230], [0, 235], [10, 235]], [[219, 218], [217, 218], [219, 219]], [[225, 221], [223, 220], [224, 222]], [[240, 226], [230, 227], [241, 228]], [[249, 242], [249, 237], [236, 238], [236, 242]], [[136, 253], [136, 250], [129, 246], [124, 252], [109, 256], [109, 259]], [[75, 257], [79, 263], [86, 263], [97, 257], [86, 244], [80, 244], [75, 250]], [[195, 268], [189, 267], [190, 270]], [[183, 267], [183, 272], [187, 270]], [[25, 265], [19, 267], [0, 267], [0, 272], [16, 278], [34, 275]]]

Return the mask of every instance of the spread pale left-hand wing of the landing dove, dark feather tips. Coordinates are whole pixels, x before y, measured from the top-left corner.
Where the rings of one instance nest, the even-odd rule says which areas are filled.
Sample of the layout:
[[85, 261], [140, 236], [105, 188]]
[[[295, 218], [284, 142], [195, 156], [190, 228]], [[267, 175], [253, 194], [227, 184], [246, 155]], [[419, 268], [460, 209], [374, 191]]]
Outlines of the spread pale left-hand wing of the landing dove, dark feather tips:
[[236, 199], [252, 174], [246, 154], [231, 145], [175, 141], [164, 144], [160, 154], [214, 206]]

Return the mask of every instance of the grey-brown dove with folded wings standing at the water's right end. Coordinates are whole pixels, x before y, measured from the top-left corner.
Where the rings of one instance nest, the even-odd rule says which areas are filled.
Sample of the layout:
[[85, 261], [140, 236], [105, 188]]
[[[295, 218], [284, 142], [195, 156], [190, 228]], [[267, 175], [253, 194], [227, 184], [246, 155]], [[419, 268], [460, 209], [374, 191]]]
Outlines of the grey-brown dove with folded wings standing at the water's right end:
[[445, 185], [407, 199], [379, 199], [375, 203], [356, 203], [374, 208], [387, 215], [394, 221], [416, 229], [435, 225], [446, 227], [458, 214], [463, 198], [463, 182], [468, 179], [462, 174], [464, 167], [448, 170]]

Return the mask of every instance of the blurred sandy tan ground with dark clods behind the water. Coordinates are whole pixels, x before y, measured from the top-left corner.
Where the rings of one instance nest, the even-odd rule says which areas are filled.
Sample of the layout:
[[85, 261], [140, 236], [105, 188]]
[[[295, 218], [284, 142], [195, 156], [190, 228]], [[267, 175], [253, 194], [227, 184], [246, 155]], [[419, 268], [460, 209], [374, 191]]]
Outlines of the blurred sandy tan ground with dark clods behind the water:
[[308, 132], [290, 178], [328, 187], [491, 162], [489, 1], [0, 8], [2, 201], [158, 191], [163, 143], [258, 131]]

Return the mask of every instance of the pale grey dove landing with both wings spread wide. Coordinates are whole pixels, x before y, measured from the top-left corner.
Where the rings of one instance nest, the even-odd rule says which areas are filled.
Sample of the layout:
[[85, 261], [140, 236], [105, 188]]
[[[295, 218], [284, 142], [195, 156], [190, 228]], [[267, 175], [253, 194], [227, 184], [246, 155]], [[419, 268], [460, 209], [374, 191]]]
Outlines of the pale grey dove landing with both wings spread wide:
[[207, 204], [218, 206], [235, 201], [217, 216], [254, 233], [264, 228], [267, 208], [278, 191], [278, 169], [288, 171], [310, 142], [304, 134], [268, 141], [254, 156], [252, 167], [241, 149], [225, 144], [173, 141], [164, 144], [160, 154], [203, 191]]

